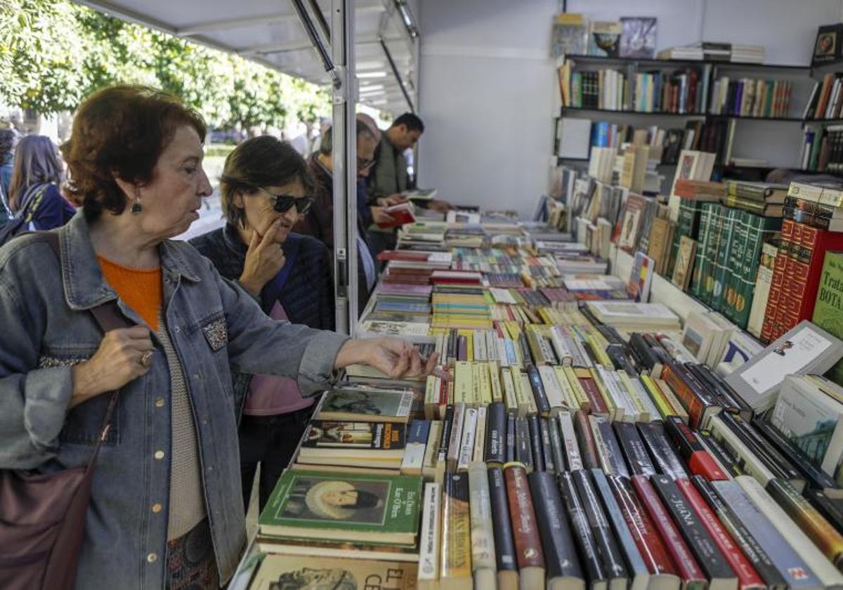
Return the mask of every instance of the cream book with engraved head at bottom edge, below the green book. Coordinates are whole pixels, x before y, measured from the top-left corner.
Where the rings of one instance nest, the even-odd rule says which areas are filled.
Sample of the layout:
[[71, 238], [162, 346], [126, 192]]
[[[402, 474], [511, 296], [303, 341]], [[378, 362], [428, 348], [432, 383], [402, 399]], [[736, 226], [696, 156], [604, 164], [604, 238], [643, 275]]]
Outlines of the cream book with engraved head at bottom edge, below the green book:
[[379, 590], [411, 590], [416, 587], [418, 564], [411, 561], [373, 561], [319, 557], [303, 560], [300, 555], [266, 555], [260, 561], [252, 590], [275, 588], [331, 587], [362, 590], [379, 580]]

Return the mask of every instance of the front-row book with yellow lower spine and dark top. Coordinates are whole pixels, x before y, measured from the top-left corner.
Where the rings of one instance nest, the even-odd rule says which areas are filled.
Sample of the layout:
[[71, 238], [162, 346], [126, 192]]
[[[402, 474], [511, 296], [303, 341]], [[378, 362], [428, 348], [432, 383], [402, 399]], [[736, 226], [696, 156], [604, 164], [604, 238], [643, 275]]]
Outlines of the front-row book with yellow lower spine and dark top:
[[468, 474], [445, 477], [442, 514], [441, 580], [471, 579], [471, 524]]

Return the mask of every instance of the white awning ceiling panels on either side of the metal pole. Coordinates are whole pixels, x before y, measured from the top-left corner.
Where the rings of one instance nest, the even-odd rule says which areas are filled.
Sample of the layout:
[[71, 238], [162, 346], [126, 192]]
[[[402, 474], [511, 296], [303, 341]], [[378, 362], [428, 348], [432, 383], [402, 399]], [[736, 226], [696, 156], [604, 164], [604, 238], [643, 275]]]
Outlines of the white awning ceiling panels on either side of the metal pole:
[[[236, 4], [207, 0], [77, 1], [120, 19], [237, 53], [312, 83], [330, 81], [289, 0], [240, 0]], [[330, 0], [318, 0], [318, 5], [330, 26]], [[357, 72], [364, 74], [361, 88], [376, 80], [387, 93], [371, 98], [362, 93], [360, 102], [395, 114], [407, 110], [400, 84], [380, 43], [383, 38], [412, 99], [416, 88], [413, 41], [395, 2], [357, 0], [354, 26]], [[387, 76], [367, 78], [368, 72], [386, 72]]]

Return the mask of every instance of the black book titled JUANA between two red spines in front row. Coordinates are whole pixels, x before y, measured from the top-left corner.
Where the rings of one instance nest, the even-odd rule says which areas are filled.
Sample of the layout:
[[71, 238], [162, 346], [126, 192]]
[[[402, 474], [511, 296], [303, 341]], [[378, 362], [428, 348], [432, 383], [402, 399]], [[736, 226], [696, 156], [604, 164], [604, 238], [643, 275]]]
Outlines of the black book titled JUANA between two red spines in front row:
[[679, 532], [685, 538], [697, 563], [706, 572], [710, 590], [736, 588], [738, 577], [732, 566], [729, 566], [714, 539], [711, 539], [711, 535], [706, 532], [676, 482], [668, 475], [653, 475], [650, 483], [677, 523]]

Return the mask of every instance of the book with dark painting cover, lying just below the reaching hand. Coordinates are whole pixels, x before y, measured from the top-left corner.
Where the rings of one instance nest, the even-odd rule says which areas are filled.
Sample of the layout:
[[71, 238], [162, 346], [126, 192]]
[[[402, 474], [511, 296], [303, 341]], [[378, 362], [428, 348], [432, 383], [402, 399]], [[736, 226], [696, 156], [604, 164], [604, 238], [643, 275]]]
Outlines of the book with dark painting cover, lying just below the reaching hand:
[[331, 389], [319, 405], [319, 420], [406, 422], [413, 405], [411, 389]]

